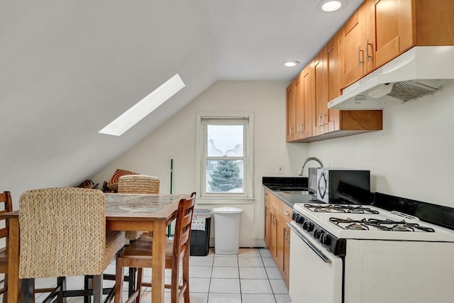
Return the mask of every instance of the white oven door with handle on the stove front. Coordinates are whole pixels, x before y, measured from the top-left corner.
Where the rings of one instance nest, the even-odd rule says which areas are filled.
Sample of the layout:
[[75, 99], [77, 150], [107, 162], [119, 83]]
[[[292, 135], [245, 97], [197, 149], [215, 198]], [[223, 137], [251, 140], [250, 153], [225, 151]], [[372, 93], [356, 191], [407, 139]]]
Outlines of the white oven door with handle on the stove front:
[[[341, 303], [342, 260], [309, 238], [301, 229], [292, 229], [290, 246], [289, 295], [293, 302]], [[309, 241], [311, 244], [307, 244]]]

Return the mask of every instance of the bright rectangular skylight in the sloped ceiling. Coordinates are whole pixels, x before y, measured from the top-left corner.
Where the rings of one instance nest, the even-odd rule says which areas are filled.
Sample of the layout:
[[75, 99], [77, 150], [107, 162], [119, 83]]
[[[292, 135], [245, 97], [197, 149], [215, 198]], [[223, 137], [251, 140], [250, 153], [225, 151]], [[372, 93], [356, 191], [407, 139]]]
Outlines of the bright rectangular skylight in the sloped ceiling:
[[158, 106], [170, 99], [174, 94], [177, 94], [185, 86], [178, 74], [173, 76], [98, 133], [112, 136], [123, 135], [129, 128], [135, 126], [135, 124], [145, 118], [145, 116], [148, 116], [148, 114], [157, 109]]

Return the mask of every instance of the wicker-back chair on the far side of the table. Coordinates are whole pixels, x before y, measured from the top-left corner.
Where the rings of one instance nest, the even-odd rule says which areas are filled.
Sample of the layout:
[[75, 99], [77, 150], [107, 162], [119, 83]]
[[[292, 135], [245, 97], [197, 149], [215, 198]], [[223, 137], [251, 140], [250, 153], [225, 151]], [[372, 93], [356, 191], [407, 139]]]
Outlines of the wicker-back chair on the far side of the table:
[[[159, 194], [160, 180], [148, 175], [126, 175], [118, 178], [118, 194]], [[137, 240], [143, 231], [126, 231], [128, 240]]]

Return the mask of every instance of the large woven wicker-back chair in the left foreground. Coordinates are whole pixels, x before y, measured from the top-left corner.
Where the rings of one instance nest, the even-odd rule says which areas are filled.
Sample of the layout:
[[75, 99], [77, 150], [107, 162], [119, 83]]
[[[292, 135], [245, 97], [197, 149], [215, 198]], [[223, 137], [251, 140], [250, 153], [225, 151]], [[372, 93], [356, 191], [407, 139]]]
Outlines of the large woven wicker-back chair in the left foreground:
[[[102, 273], [124, 245], [123, 231], [106, 231], [104, 194], [73, 187], [34, 189], [21, 194], [19, 209], [19, 277], [33, 282], [37, 277], [94, 275], [92, 293], [99, 302]], [[69, 297], [65, 283], [59, 283], [59, 298]], [[31, 299], [31, 286], [23, 288], [21, 297]]]

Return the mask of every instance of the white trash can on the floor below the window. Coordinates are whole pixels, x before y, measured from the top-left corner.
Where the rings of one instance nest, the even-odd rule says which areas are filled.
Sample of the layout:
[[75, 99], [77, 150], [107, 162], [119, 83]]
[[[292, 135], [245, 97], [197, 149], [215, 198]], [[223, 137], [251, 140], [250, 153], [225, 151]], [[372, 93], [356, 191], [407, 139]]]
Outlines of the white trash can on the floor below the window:
[[240, 248], [240, 224], [243, 209], [216, 207], [214, 214], [214, 253], [238, 255]]

